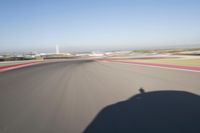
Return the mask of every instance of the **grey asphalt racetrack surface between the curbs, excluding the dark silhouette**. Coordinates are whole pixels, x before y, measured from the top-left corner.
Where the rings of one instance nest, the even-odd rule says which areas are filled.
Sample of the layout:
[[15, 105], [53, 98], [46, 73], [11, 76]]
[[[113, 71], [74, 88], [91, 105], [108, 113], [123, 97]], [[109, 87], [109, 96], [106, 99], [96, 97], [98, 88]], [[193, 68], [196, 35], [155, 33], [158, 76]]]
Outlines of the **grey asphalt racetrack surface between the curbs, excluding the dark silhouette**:
[[80, 133], [107, 105], [139, 93], [200, 95], [200, 74], [132, 64], [65, 61], [0, 73], [0, 133]]

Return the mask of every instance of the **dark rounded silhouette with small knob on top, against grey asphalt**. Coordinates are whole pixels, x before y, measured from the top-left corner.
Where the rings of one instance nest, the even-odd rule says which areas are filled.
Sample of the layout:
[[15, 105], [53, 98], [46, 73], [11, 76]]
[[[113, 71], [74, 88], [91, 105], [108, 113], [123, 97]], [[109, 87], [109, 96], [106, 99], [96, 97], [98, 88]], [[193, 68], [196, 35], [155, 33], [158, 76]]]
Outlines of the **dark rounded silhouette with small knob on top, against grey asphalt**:
[[200, 133], [200, 96], [145, 92], [105, 107], [84, 133]]

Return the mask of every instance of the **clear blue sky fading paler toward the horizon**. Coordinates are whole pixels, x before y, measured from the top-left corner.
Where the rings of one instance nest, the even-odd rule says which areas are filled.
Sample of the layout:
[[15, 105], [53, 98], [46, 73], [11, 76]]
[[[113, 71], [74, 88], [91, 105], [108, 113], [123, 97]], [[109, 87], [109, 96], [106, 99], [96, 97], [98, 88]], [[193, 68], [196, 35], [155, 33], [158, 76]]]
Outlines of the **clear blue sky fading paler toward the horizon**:
[[199, 0], [0, 1], [0, 51], [198, 43]]

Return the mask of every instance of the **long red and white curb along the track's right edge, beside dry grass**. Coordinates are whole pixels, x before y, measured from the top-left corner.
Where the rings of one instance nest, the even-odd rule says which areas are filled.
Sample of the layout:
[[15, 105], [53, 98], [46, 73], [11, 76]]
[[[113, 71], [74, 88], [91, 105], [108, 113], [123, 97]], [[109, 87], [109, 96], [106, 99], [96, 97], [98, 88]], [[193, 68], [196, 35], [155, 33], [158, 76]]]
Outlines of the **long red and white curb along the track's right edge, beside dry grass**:
[[181, 66], [181, 65], [172, 65], [172, 64], [128, 62], [128, 61], [116, 61], [116, 60], [115, 61], [114, 60], [110, 60], [110, 61], [111, 62], [121, 62], [121, 63], [129, 63], [129, 64], [139, 64], [139, 65], [147, 65], [147, 66], [158, 66], [158, 67], [166, 67], [166, 68], [177, 68], [177, 69], [184, 69], [184, 70], [200, 71], [200, 67], [197, 67], [197, 66]]

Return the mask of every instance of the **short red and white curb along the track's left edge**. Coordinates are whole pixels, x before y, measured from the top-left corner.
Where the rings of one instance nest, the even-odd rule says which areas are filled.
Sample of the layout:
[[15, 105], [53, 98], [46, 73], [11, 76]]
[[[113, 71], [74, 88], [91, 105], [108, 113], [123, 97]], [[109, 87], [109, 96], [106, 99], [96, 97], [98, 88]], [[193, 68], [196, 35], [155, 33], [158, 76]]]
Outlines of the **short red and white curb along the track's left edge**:
[[22, 64], [15, 64], [15, 65], [8, 65], [8, 66], [0, 66], [0, 72], [8, 71], [8, 70], [13, 70], [21, 67], [26, 67], [26, 66], [31, 66], [35, 64], [40, 64], [40, 62], [28, 62], [28, 63], [22, 63]]

